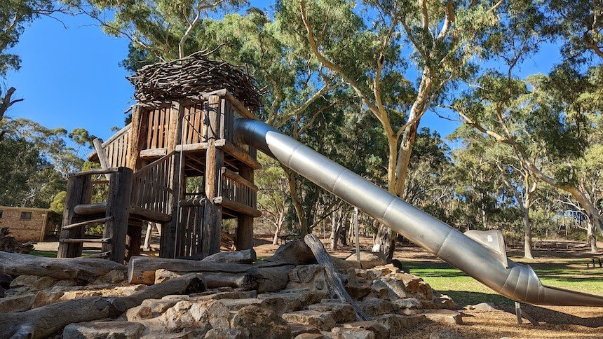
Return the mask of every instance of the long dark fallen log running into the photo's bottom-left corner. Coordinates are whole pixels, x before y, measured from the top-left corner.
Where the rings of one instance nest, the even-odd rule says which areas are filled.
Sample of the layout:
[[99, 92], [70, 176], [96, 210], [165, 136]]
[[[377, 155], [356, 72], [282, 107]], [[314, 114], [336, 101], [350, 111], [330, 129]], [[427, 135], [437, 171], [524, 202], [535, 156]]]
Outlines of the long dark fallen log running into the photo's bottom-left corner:
[[0, 338], [48, 338], [72, 323], [119, 317], [145, 299], [202, 291], [205, 291], [203, 280], [199, 275], [191, 274], [149, 286], [126, 297], [75, 299], [25, 312], [3, 314], [0, 317]]

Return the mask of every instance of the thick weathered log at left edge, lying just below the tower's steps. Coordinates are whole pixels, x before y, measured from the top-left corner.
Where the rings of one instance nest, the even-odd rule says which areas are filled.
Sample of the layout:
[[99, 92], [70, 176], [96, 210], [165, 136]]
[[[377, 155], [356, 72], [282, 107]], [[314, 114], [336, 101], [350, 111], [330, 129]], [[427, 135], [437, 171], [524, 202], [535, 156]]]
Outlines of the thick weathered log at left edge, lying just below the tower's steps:
[[104, 259], [43, 258], [0, 251], [0, 273], [13, 276], [38, 275], [91, 282], [111, 270], [126, 270], [126, 266]]

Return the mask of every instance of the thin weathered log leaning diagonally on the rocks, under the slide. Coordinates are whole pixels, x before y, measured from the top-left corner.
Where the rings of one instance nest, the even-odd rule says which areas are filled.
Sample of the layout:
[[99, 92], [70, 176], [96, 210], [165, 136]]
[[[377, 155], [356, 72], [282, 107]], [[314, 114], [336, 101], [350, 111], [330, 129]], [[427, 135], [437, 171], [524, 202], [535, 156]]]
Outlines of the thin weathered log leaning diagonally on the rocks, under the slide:
[[339, 272], [337, 272], [335, 269], [335, 266], [331, 261], [331, 256], [327, 253], [327, 250], [323, 246], [323, 243], [320, 242], [318, 237], [313, 234], [306, 235], [304, 237], [304, 242], [308, 245], [308, 247], [310, 247], [312, 253], [316, 257], [316, 261], [318, 261], [318, 265], [321, 265], [323, 268], [325, 268], [327, 279], [329, 282], [331, 282], [331, 284], [333, 284], [334, 291], [339, 297], [339, 300], [354, 307], [358, 320], [370, 320], [370, 317], [360, 309], [360, 306], [355, 303], [348, 291], [346, 291], [346, 286], [344, 285], [343, 279], [341, 279]]

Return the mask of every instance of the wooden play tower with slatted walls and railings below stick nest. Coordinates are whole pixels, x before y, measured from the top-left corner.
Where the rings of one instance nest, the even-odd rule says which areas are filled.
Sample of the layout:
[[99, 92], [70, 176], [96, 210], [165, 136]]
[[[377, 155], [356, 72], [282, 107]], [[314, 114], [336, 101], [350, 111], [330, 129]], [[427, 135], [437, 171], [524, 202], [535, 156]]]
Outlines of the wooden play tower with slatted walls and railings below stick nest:
[[[232, 76], [233, 68], [226, 71]], [[218, 80], [224, 77], [217, 74]], [[212, 86], [199, 88], [216, 88], [215, 78]], [[132, 122], [102, 144], [105, 156], [89, 156], [105, 162], [104, 170], [69, 177], [59, 256], [81, 256], [82, 243], [89, 240], [82, 239], [83, 226], [93, 223], [105, 224], [102, 239], [93, 240], [102, 242], [97, 256], [114, 261], [140, 253], [144, 221], [159, 226], [164, 258], [218, 252], [225, 219], [236, 219], [235, 247], [252, 247], [253, 219], [261, 214], [253, 172], [261, 166], [255, 149], [236, 144], [233, 135], [236, 118], [256, 118], [250, 105], [233, 95], [240, 92], [233, 88], [240, 75], [237, 80], [209, 92], [191, 86], [187, 95], [163, 91], [152, 100], [141, 100], [137, 88]], [[190, 184], [192, 178], [198, 178], [196, 185]], [[90, 202], [93, 188], [107, 184], [107, 200]]]

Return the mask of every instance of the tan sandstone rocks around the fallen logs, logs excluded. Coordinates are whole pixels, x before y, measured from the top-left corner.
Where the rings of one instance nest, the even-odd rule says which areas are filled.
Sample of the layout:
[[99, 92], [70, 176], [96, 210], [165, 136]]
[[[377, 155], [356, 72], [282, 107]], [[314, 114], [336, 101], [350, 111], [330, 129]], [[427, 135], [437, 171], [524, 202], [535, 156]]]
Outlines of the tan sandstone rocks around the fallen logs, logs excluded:
[[[170, 274], [169, 268], [158, 271], [158, 284], [179, 276]], [[309, 264], [290, 266], [287, 284], [280, 291], [219, 287], [149, 298], [115, 319], [69, 324], [55, 338], [398, 338], [420, 327], [454, 328], [463, 323], [452, 299], [393, 265], [340, 272], [346, 290], [370, 321], [358, 321], [353, 306], [334, 295], [325, 269]], [[149, 288], [129, 284], [125, 270], [111, 270], [87, 283], [4, 275], [4, 284], [8, 289], [0, 298], [0, 313], [24, 315], [66, 300], [130, 296]], [[453, 334], [441, 328], [431, 337]]]

